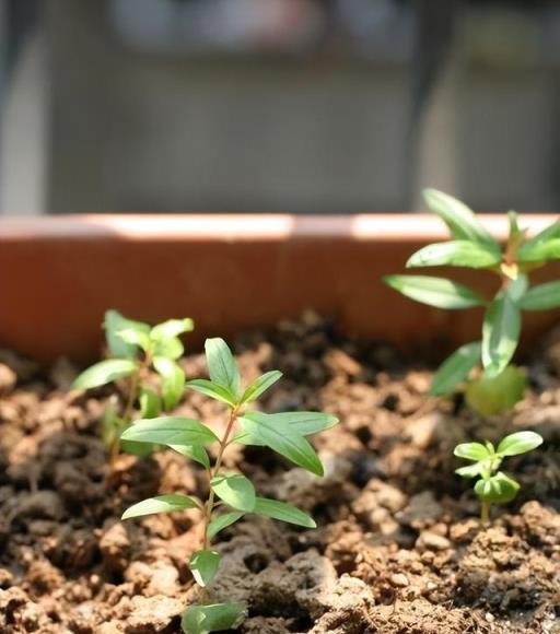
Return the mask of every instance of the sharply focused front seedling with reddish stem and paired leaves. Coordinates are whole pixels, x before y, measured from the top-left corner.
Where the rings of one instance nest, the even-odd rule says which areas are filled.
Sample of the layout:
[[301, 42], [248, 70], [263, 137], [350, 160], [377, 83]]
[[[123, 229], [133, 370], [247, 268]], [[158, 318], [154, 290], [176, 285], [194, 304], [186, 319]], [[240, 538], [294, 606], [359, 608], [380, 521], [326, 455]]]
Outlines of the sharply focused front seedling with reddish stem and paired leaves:
[[[265, 414], [247, 409], [282, 374], [267, 372], [248, 387], [242, 386], [237, 364], [223, 339], [208, 339], [206, 359], [210, 380], [194, 379], [187, 387], [226, 406], [229, 413], [223, 432], [218, 435], [199, 421], [166, 416], [138, 421], [121, 435], [125, 441], [166, 445], [200, 463], [207, 471], [209, 493], [205, 501], [192, 495], [172, 493], [135, 504], [122, 519], [153, 513], [172, 513], [195, 508], [201, 516], [201, 548], [190, 559], [190, 571], [201, 587], [200, 604], [190, 606], [183, 615], [183, 631], [206, 634], [228, 630], [243, 618], [245, 606], [238, 602], [217, 603], [208, 587], [218, 573], [221, 555], [212, 548], [215, 536], [245, 515], [256, 514], [305, 528], [315, 521], [303, 510], [278, 500], [259, 497], [254, 484], [241, 473], [224, 470], [224, 453], [232, 444], [269, 447], [302, 469], [323, 476], [323, 466], [306, 436], [328, 430], [338, 420], [319, 412]], [[207, 448], [215, 447], [210, 460]]]

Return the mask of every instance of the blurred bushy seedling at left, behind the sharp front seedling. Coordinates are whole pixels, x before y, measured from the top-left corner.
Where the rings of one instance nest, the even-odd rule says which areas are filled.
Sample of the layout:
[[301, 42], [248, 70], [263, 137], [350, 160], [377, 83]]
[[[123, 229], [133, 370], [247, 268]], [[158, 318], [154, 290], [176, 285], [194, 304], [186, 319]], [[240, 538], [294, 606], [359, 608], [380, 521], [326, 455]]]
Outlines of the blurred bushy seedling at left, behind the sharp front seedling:
[[[151, 419], [173, 409], [180, 399], [185, 373], [177, 360], [185, 350], [179, 336], [189, 332], [192, 327], [192, 320], [188, 318], [168, 319], [151, 327], [127, 319], [116, 310], [105, 313], [104, 328], [110, 359], [82, 372], [72, 389], [85, 390], [115, 381], [126, 383], [124, 407], [109, 401], [103, 418], [103, 439], [112, 462], [118, 456], [120, 434], [132, 423], [137, 404], [141, 418]], [[149, 385], [151, 369], [160, 376], [159, 391]], [[138, 446], [122, 444], [122, 448], [137, 453]]]

